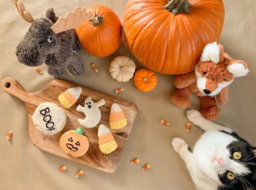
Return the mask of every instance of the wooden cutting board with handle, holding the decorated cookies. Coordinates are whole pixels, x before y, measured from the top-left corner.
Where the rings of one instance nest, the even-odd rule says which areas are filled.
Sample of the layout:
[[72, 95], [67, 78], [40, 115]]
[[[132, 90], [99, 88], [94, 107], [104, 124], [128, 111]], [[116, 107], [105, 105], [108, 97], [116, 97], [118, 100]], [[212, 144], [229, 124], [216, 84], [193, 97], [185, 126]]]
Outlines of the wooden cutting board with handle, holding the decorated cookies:
[[[39, 149], [61, 156], [66, 159], [73, 160], [75, 162], [94, 167], [98, 170], [105, 171], [108, 173], [113, 173], [116, 171], [120, 158], [122, 156], [122, 152], [124, 150], [126, 141], [130, 134], [134, 119], [137, 114], [137, 107], [134, 103], [122, 100], [118, 97], [110, 96], [105, 93], [98, 92], [93, 89], [86, 88], [81, 85], [77, 85], [75, 83], [71, 83], [65, 80], [54, 80], [48, 86], [45, 87], [41, 92], [36, 94], [28, 93], [23, 87], [17, 82], [15, 79], [7, 77], [4, 78], [1, 82], [2, 89], [12, 94], [19, 99], [21, 99], [27, 109], [28, 109], [28, 118], [29, 118], [29, 136], [32, 143]], [[60, 102], [58, 101], [58, 96], [64, 92], [66, 89], [73, 87], [81, 87], [83, 89], [81, 96], [78, 101], [70, 107], [69, 109], [65, 109]], [[63, 133], [68, 130], [77, 129], [80, 124], [77, 122], [78, 118], [85, 118], [85, 115], [82, 112], [77, 112], [77, 105], [81, 104], [84, 106], [84, 101], [86, 97], [92, 97], [93, 101], [99, 101], [100, 99], [104, 99], [106, 101], [105, 105], [100, 107], [101, 111], [101, 120], [100, 123], [93, 128], [84, 128], [84, 133], [90, 143], [89, 150], [87, 153], [81, 157], [73, 157], [71, 155], [65, 154], [59, 146], [59, 139]], [[32, 115], [36, 109], [36, 107], [42, 102], [53, 102], [59, 105], [66, 113], [66, 125], [64, 129], [54, 135], [45, 136], [39, 132], [33, 125]], [[109, 113], [110, 108], [113, 103], [117, 103], [120, 105], [122, 110], [124, 111], [128, 124], [118, 130], [111, 130], [109, 126]], [[104, 124], [108, 126], [110, 131], [113, 133], [113, 136], [117, 142], [117, 149], [110, 154], [103, 154], [100, 151], [98, 145], [98, 127], [100, 124]]]

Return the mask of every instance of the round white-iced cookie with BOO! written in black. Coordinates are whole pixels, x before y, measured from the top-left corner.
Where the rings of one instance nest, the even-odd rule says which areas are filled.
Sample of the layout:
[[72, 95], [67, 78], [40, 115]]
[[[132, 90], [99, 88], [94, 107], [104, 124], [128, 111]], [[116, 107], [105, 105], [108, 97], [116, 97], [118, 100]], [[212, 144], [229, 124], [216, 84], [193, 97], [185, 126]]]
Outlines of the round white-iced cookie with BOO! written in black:
[[60, 132], [66, 124], [66, 114], [52, 102], [43, 102], [32, 116], [33, 124], [42, 134], [53, 135]]

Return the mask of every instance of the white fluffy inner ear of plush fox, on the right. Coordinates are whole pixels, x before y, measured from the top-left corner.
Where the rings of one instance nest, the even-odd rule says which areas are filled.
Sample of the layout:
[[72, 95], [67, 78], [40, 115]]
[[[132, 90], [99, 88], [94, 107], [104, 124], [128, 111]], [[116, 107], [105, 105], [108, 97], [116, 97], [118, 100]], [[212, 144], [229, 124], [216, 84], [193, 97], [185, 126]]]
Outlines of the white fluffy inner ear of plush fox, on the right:
[[234, 77], [245, 76], [249, 72], [247, 64], [241, 60], [233, 60], [232, 63], [227, 66], [227, 70], [232, 73]]

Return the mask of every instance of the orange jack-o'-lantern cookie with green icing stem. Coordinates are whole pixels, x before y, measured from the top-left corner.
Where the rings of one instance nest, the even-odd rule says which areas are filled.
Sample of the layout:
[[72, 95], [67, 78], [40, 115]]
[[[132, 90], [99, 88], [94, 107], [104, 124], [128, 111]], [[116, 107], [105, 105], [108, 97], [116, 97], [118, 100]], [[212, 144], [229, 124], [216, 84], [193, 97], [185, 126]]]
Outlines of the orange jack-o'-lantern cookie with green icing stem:
[[74, 157], [83, 156], [89, 148], [89, 141], [83, 135], [83, 129], [79, 127], [77, 130], [69, 130], [62, 134], [60, 138], [60, 147], [66, 154]]

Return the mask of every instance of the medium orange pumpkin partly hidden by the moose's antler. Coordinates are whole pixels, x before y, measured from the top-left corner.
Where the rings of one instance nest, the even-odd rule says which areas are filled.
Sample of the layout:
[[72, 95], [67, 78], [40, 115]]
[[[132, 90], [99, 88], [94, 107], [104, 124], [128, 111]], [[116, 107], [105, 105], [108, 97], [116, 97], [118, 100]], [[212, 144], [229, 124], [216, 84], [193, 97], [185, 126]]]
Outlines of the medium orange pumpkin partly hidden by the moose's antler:
[[76, 28], [82, 47], [96, 57], [113, 54], [121, 44], [122, 25], [118, 16], [109, 7], [94, 5], [88, 7], [91, 19]]

